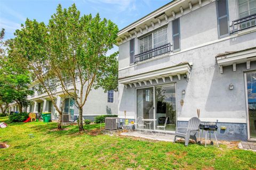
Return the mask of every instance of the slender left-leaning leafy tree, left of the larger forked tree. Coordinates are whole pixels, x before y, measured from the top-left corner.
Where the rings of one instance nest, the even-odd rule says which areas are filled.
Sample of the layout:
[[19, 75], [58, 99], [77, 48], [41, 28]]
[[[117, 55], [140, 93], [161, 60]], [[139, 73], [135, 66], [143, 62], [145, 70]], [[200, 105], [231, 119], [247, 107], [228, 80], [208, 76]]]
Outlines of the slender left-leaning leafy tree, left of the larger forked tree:
[[9, 57], [24, 70], [29, 71], [34, 83], [39, 83], [59, 113], [58, 129], [61, 129], [63, 102], [59, 107], [55, 101], [55, 89], [60, 84], [53, 77], [50, 65], [49, 32], [43, 22], [27, 19], [21, 30], [16, 30], [10, 40]]

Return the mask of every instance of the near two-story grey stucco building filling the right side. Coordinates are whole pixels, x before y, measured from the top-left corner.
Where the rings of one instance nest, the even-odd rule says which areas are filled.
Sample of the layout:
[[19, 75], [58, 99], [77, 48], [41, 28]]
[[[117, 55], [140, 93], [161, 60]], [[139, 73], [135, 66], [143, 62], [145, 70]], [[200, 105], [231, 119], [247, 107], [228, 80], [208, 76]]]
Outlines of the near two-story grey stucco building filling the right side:
[[[256, 138], [256, 1], [174, 0], [118, 33], [118, 117]], [[126, 115], [124, 115], [126, 113]]]

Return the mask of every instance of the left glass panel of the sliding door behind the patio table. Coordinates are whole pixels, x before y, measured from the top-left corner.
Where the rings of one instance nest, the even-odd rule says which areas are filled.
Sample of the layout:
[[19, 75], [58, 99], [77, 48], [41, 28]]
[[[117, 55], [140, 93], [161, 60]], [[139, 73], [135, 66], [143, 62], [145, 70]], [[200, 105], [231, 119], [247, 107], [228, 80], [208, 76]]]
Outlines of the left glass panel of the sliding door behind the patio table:
[[[154, 118], [154, 87], [137, 89], [137, 118]], [[154, 129], [154, 124], [151, 124]]]

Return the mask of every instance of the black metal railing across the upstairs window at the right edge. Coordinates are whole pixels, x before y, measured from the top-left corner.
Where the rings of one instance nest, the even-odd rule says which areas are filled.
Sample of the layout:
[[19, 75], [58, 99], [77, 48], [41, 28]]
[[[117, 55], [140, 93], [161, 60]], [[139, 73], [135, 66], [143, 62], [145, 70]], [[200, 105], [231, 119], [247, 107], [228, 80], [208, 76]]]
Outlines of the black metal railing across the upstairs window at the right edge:
[[256, 26], [256, 13], [232, 21], [230, 33], [242, 31]]

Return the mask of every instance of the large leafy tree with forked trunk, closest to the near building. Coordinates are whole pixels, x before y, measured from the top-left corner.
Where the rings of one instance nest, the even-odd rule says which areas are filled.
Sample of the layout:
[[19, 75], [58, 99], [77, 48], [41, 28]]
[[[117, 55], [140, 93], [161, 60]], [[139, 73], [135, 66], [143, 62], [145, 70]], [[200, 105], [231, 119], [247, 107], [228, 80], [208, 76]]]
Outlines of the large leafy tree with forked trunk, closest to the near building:
[[[49, 21], [53, 74], [62, 89], [75, 99], [79, 109], [79, 131], [83, 131], [83, 106], [92, 88], [117, 89], [117, 53], [106, 56], [116, 43], [118, 28], [97, 14], [80, 16], [75, 4], [57, 13]], [[70, 82], [74, 92], [69, 91]]]

